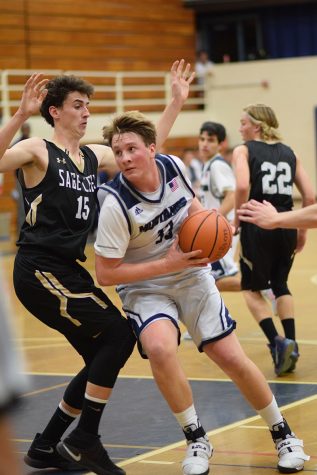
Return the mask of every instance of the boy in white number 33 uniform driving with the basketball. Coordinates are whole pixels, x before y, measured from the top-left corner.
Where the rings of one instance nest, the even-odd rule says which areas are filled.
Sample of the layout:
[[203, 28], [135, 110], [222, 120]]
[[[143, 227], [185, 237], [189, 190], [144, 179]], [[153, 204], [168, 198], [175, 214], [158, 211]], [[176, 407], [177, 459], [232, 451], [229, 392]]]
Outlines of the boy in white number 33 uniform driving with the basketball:
[[99, 190], [96, 275], [100, 285], [117, 285], [139, 351], [149, 359], [155, 381], [184, 432], [183, 474], [208, 474], [213, 449], [177, 357], [179, 321], [198, 350], [232, 379], [263, 418], [280, 472], [302, 470], [309, 459], [303, 443], [240, 346], [236, 324], [210, 274], [209, 259], [201, 258], [199, 250], [184, 253], [178, 246], [184, 219], [203, 209], [185, 177], [184, 164], [178, 157], [156, 154], [155, 127], [139, 112], [115, 117], [104, 137], [120, 173]]

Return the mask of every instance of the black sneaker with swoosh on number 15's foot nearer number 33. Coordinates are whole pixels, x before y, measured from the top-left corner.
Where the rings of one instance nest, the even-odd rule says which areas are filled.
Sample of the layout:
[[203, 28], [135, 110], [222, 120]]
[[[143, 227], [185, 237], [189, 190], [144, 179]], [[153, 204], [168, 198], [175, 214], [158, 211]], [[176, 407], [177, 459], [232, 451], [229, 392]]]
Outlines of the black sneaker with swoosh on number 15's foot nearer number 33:
[[77, 462], [98, 475], [126, 475], [122, 468], [110, 460], [99, 435], [76, 428], [56, 448], [65, 459]]

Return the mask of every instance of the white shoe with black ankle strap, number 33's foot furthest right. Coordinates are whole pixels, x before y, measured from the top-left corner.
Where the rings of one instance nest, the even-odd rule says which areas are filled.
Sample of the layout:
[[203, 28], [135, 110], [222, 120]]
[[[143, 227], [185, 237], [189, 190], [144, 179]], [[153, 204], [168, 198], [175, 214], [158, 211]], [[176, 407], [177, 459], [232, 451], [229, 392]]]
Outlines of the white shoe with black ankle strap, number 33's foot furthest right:
[[303, 441], [297, 439], [285, 419], [272, 427], [271, 434], [278, 453], [279, 472], [297, 473], [303, 470], [305, 460], [310, 457], [303, 450]]

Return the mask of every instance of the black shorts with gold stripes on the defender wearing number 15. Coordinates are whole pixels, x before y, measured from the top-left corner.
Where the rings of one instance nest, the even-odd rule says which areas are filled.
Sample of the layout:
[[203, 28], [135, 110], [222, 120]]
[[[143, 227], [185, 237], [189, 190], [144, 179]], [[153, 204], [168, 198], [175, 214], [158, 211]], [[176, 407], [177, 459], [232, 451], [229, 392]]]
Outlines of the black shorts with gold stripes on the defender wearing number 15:
[[109, 341], [113, 345], [131, 328], [106, 294], [77, 261], [20, 249], [14, 263], [14, 287], [24, 307], [65, 335], [82, 355]]

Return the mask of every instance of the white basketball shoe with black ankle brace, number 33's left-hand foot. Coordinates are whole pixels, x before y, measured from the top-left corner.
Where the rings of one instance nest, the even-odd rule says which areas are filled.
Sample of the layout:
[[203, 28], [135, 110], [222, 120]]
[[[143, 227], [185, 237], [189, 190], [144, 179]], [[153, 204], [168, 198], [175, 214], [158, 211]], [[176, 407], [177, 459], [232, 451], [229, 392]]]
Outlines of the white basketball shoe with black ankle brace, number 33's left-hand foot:
[[204, 429], [196, 426], [184, 428], [187, 440], [186, 457], [182, 463], [183, 475], [207, 475], [212, 446]]

